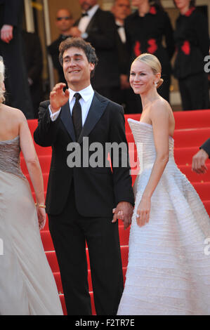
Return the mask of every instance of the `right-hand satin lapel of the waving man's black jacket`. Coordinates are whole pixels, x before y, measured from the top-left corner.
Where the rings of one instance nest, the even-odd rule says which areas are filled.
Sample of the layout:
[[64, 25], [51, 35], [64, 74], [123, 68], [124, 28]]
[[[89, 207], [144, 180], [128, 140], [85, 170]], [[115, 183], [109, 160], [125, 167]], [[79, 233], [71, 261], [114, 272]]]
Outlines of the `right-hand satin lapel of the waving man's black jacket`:
[[78, 143], [82, 143], [82, 138], [88, 136], [89, 133], [91, 133], [94, 126], [105, 112], [105, 108], [107, 107], [107, 104], [108, 104], [108, 100], [100, 99], [100, 95], [98, 95], [95, 92], [93, 96], [93, 101], [91, 103], [91, 107], [88, 111], [88, 116], [81, 130]]

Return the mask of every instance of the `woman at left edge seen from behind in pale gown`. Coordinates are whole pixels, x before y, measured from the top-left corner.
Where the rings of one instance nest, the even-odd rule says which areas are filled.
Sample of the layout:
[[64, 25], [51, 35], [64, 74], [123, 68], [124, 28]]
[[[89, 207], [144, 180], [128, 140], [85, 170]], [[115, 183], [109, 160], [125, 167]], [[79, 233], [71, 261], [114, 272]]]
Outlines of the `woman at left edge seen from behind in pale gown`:
[[[46, 220], [39, 160], [24, 114], [3, 101], [0, 59], [0, 315], [63, 315], [39, 233]], [[20, 169], [20, 150], [37, 207]]]

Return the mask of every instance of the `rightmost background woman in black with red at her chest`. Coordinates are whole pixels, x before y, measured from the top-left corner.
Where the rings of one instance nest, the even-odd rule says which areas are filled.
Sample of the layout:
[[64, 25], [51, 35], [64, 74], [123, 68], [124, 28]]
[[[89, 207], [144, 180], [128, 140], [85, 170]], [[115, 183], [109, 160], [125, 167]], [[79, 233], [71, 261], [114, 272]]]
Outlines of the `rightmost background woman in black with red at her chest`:
[[209, 53], [208, 22], [195, 8], [195, 0], [173, 0], [180, 15], [174, 32], [176, 60], [173, 74], [178, 79], [183, 110], [209, 108], [208, 75], [204, 58]]

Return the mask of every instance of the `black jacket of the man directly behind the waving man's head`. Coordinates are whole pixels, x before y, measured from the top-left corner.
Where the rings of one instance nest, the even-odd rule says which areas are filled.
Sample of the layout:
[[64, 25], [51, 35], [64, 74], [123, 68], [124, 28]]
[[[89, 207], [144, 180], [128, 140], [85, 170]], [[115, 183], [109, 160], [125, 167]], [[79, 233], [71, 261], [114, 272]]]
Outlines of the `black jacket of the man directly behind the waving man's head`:
[[[79, 20], [75, 22], [77, 26]], [[88, 38], [86, 41], [96, 49], [98, 65], [91, 80], [93, 88], [117, 87], [119, 86], [119, 63], [117, 60], [116, 27], [114, 16], [108, 11], [100, 8], [86, 28]]]

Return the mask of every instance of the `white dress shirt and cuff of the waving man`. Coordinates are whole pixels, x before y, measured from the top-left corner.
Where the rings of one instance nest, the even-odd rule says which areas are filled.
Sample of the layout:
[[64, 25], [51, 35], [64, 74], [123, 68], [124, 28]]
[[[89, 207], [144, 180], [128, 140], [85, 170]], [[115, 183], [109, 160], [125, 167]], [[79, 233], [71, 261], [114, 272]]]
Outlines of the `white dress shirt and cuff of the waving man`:
[[[91, 85], [89, 85], [88, 87], [82, 89], [81, 91], [77, 91], [77, 92], [72, 91], [72, 89], [69, 88], [69, 91], [70, 91], [69, 103], [70, 103], [70, 112], [71, 112], [71, 114], [72, 114], [72, 109], [73, 109], [74, 103], [75, 103], [74, 94], [79, 93], [81, 95], [81, 98], [79, 99], [79, 103], [81, 105], [82, 126], [84, 126], [84, 123], [86, 121], [86, 117], [88, 115], [88, 111], [91, 107], [91, 103], [92, 103], [92, 100], [93, 100], [93, 95], [94, 95], [93, 87]], [[58, 118], [58, 115], [60, 114], [60, 110], [52, 113], [50, 105], [49, 105], [48, 109], [49, 109], [49, 112], [51, 114], [51, 120], [55, 121]]]

